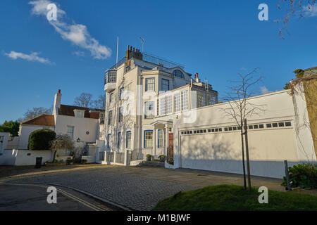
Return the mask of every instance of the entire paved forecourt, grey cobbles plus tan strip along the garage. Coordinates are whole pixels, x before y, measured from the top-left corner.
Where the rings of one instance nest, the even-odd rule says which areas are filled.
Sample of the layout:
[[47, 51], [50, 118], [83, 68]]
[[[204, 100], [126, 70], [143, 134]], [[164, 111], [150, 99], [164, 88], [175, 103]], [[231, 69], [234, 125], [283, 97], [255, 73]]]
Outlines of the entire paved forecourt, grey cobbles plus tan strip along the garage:
[[[2, 180], [4, 181], [4, 180]], [[20, 174], [11, 183], [47, 183], [68, 186], [132, 210], [151, 210], [159, 200], [179, 191], [217, 184], [243, 184], [240, 174], [194, 169], [121, 167], [104, 165], [86, 169], [56, 169]], [[252, 177], [253, 186], [283, 191], [281, 179]]]

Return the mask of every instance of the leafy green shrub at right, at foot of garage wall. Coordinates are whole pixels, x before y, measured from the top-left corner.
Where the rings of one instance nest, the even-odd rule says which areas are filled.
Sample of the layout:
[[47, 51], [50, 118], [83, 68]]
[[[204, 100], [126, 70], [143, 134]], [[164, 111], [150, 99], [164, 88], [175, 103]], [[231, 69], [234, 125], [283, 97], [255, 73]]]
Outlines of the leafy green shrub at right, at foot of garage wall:
[[[300, 188], [317, 188], [317, 165], [304, 163], [288, 167], [290, 185]], [[283, 177], [282, 186], [287, 186], [286, 177]]]

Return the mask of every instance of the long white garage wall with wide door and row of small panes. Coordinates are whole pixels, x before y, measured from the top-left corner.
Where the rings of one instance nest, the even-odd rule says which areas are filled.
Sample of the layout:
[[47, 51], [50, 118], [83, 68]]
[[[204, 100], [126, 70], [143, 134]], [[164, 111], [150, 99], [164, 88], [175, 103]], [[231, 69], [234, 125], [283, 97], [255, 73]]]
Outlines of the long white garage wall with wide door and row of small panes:
[[[263, 111], [248, 118], [248, 124], [264, 124], [264, 129], [252, 129], [249, 134], [251, 174], [282, 178], [284, 160], [292, 166], [304, 158], [297, 144], [297, 120], [294, 117], [292, 96], [287, 91], [249, 98], [250, 103], [261, 105]], [[302, 103], [303, 104], [303, 103]], [[301, 105], [303, 107], [304, 105]], [[196, 120], [185, 123], [184, 115], [174, 119], [174, 167], [206, 169], [219, 172], [242, 173], [240, 131], [224, 131], [224, 127], [237, 126], [220, 109], [228, 103], [198, 108]], [[305, 109], [305, 107], [304, 107]], [[290, 121], [291, 127], [266, 128], [266, 123]], [[206, 134], [182, 135], [181, 131], [222, 127], [223, 131]], [[306, 133], [304, 133], [306, 135]], [[306, 151], [314, 155], [312, 139], [305, 138]]]

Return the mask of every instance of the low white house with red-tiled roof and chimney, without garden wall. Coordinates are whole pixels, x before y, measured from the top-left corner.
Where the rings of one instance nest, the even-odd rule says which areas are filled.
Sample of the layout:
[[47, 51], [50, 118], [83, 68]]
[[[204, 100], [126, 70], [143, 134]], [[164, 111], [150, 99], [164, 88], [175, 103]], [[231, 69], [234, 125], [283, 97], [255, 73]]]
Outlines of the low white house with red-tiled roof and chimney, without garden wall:
[[21, 122], [18, 146], [15, 148], [27, 149], [29, 136], [37, 129], [51, 129], [56, 134], [68, 134], [79, 146], [95, 143], [99, 135], [99, 115], [103, 112], [104, 110], [100, 109], [62, 105], [61, 90], [58, 90], [54, 98], [52, 115], [39, 115]]

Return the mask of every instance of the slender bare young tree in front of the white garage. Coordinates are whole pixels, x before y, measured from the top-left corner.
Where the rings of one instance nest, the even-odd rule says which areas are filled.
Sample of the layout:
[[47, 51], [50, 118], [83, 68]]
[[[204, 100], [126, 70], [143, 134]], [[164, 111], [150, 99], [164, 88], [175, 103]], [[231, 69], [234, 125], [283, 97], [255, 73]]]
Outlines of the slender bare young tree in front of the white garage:
[[[241, 133], [241, 146], [242, 146], [242, 167], [244, 175], [244, 189], [247, 187], [246, 176], [245, 176], [245, 165], [244, 165], [244, 140], [243, 140], [243, 127], [244, 120], [250, 117], [254, 113], [259, 113], [263, 111], [262, 105], [256, 105], [250, 103], [248, 98], [254, 96], [254, 90], [252, 89], [256, 84], [258, 84], [262, 77], [254, 77], [254, 73], [259, 70], [255, 68], [247, 75], [241, 75], [239, 73], [240, 79], [231, 81], [235, 84], [229, 87], [229, 91], [225, 93], [222, 98], [223, 101], [228, 102], [228, 108], [219, 108], [225, 115], [233, 119], [240, 129]], [[249, 172], [249, 169], [248, 169]], [[249, 173], [248, 173], [249, 178]], [[250, 181], [249, 181], [250, 184]]]

